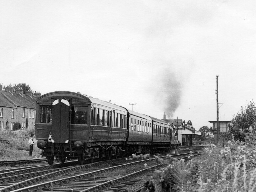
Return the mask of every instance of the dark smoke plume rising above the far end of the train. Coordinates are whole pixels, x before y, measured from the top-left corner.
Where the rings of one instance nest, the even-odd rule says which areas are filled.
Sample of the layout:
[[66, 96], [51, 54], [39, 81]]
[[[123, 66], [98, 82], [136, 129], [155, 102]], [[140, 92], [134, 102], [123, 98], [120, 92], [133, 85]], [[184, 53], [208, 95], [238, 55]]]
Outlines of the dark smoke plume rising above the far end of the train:
[[171, 73], [169, 70], [164, 71], [162, 74], [159, 93], [161, 93], [162, 105], [166, 115], [169, 118], [174, 116], [174, 112], [181, 102], [182, 96], [182, 82], [177, 78], [177, 75]]

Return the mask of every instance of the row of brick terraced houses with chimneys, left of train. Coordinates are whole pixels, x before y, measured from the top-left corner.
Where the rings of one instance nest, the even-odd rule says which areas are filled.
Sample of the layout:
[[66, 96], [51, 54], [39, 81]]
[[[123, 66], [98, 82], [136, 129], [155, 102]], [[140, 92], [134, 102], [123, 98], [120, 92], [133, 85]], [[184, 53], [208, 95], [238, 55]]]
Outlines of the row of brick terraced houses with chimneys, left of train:
[[4, 129], [33, 129], [36, 117], [36, 97], [41, 93], [18, 89], [13, 92], [12, 86], [5, 91], [0, 85], [0, 131]]

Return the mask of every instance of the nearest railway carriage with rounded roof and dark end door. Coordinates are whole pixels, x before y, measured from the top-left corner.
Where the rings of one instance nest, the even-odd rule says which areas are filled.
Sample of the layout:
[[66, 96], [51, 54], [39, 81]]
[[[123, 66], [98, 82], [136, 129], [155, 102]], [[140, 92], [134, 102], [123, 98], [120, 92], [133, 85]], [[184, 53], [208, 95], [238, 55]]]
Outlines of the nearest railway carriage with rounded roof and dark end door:
[[68, 91], [37, 100], [36, 138], [52, 164], [54, 156], [84, 159], [122, 155], [127, 138], [127, 111], [121, 106]]

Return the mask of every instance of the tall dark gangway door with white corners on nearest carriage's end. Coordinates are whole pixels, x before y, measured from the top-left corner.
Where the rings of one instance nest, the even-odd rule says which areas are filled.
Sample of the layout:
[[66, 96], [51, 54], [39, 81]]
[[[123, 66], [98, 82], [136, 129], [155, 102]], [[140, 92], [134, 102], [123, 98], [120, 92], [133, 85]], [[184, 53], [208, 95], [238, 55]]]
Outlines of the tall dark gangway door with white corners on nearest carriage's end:
[[69, 142], [69, 108], [65, 99], [57, 99], [52, 104], [52, 142]]

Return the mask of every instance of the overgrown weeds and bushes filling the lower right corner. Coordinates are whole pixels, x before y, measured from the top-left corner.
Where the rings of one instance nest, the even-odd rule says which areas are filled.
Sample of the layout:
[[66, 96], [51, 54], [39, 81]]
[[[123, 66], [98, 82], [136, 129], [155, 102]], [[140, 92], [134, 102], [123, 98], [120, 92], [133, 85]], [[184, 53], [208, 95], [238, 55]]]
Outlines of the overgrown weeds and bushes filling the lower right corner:
[[211, 144], [188, 162], [160, 160], [165, 166], [154, 173], [155, 191], [256, 191], [255, 129], [256, 108], [250, 102], [234, 115], [229, 133], [223, 134], [228, 140], [224, 146]]

